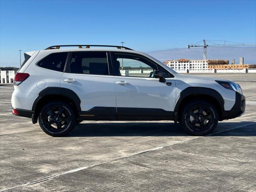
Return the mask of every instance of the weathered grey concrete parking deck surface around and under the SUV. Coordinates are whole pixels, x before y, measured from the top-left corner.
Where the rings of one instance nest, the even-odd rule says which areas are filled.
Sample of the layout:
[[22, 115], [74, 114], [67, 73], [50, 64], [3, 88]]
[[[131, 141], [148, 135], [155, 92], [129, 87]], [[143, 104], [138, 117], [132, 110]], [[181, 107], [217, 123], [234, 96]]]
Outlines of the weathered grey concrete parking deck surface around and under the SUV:
[[0, 191], [255, 191], [256, 74], [204, 75], [246, 96], [244, 116], [204, 137], [168, 121], [84, 121], [53, 138], [12, 115], [13, 87], [0, 86]]

